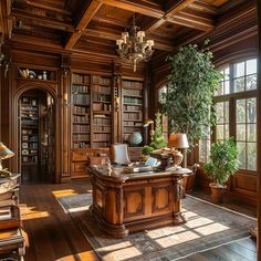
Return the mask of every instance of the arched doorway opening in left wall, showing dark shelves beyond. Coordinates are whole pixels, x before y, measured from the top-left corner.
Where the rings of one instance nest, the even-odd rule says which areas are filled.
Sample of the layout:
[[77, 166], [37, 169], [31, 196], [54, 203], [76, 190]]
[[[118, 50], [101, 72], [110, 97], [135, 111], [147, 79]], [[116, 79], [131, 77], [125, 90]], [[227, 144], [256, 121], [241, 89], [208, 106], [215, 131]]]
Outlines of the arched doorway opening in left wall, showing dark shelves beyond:
[[18, 169], [22, 182], [55, 180], [55, 113], [43, 88], [24, 90], [18, 97]]

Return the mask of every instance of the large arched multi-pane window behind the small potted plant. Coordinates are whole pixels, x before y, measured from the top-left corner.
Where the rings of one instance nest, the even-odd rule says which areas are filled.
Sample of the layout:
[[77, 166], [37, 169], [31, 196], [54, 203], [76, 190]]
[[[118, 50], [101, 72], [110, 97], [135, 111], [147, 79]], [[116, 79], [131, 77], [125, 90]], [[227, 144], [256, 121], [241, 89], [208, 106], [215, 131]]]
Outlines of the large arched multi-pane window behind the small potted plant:
[[[220, 72], [223, 79], [215, 94], [217, 126], [211, 139], [233, 136], [240, 169], [257, 171], [257, 59], [229, 64]], [[210, 146], [200, 143], [199, 160], [206, 163]]]

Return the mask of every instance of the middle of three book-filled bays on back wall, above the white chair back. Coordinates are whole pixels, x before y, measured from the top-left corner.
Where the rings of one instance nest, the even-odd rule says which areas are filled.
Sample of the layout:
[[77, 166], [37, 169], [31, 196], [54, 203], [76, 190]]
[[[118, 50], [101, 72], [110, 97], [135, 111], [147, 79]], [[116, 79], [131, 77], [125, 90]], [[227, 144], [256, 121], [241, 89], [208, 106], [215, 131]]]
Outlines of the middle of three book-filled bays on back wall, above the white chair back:
[[93, 75], [92, 84], [92, 147], [109, 147], [112, 140], [112, 79]]

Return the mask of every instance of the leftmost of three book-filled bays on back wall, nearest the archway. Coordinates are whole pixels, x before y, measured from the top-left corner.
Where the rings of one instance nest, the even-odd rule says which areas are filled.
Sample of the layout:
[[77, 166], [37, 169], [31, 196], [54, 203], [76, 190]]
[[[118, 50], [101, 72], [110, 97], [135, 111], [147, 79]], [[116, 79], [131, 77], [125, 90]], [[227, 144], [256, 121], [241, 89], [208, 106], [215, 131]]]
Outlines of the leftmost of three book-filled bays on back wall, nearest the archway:
[[72, 74], [72, 148], [91, 147], [91, 75]]

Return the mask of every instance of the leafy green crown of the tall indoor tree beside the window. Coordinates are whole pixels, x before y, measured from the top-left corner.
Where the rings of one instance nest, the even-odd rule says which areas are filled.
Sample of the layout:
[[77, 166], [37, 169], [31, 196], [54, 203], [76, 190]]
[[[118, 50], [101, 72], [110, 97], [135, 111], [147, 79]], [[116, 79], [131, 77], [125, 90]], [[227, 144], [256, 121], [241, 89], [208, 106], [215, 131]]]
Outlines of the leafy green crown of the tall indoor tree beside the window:
[[199, 50], [196, 44], [182, 46], [169, 58], [171, 73], [160, 103], [171, 132], [187, 134], [190, 145], [207, 137], [209, 126], [216, 124], [212, 97], [222, 74], [211, 59], [207, 48]]

